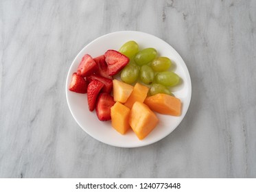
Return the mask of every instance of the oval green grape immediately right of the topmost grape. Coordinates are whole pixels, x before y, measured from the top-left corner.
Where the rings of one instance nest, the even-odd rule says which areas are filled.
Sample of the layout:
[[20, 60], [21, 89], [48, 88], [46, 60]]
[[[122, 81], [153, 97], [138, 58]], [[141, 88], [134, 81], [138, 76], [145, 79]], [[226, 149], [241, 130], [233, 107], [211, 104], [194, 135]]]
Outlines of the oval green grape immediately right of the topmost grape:
[[148, 64], [148, 62], [154, 60], [156, 58], [156, 49], [154, 48], [146, 48], [142, 49], [135, 55], [135, 62], [139, 64], [139, 66], [143, 64]]

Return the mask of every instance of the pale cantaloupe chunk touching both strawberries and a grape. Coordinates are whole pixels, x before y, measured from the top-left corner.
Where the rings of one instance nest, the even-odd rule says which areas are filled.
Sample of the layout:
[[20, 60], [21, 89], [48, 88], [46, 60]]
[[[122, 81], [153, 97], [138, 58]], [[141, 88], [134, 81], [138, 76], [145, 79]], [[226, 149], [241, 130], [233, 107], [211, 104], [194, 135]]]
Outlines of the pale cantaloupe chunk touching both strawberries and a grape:
[[130, 84], [120, 82], [119, 80], [113, 80], [114, 100], [124, 104], [132, 93], [132, 89], [133, 86], [131, 86]]

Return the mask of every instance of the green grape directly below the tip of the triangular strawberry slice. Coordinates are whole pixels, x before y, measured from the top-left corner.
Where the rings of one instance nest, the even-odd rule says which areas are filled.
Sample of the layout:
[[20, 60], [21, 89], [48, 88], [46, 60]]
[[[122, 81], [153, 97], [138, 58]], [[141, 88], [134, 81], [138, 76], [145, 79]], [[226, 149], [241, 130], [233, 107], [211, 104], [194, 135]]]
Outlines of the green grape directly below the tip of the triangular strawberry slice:
[[127, 84], [134, 83], [139, 77], [139, 66], [135, 64], [128, 64], [121, 71], [121, 80]]

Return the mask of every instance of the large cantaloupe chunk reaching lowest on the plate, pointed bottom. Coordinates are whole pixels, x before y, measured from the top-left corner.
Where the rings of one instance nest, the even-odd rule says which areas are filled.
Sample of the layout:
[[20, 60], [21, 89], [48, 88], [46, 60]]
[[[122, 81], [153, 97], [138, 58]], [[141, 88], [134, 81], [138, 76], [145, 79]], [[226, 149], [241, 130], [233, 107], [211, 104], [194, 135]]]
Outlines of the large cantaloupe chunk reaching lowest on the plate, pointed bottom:
[[130, 110], [129, 124], [140, 140], [148, 136], [158, 122], [159, 119], [146, 104], [135, 101]]

